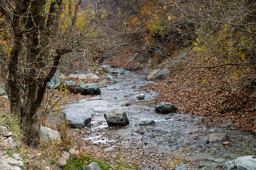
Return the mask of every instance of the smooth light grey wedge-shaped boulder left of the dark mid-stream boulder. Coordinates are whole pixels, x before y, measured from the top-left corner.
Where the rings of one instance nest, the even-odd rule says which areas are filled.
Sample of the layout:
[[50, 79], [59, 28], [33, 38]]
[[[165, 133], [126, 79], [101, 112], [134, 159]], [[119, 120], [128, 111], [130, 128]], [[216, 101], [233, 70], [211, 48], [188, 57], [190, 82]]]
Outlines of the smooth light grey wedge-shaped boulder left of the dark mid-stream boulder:
[[81, 115], [67, 112], [65, 113], [65, 118], [71, 128], [81, 129], [91, 124], [91, 115]]

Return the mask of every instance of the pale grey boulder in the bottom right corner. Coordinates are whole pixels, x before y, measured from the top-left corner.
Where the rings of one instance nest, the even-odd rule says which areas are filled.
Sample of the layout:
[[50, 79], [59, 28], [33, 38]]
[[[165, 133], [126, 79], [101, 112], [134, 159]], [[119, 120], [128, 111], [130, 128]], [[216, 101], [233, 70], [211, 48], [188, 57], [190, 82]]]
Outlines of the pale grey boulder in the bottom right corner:
[[229, 160], [225, 166], [226, 170], [256, 170], [256, 156], [243, 156]]

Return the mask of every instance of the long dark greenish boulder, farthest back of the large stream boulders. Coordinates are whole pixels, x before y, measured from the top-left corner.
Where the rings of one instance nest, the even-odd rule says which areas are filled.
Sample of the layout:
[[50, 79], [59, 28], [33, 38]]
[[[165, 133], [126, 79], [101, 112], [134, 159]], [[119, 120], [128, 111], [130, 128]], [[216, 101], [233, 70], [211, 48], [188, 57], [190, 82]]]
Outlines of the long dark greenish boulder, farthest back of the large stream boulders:
[[67, 89], [74, 93], [81, 93], [82, 95], [100, 95], [101, 91], [98, 86], [91, 83], [65, 81], [63, 82]]

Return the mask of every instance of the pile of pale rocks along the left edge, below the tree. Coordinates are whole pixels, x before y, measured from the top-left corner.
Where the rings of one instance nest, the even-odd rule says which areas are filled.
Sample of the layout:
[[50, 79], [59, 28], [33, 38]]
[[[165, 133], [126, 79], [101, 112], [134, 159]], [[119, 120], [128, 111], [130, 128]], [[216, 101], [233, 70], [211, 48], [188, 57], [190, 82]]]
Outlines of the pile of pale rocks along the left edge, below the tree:
[[[20, 145], [19, 141], [14, 141], [14, 134], [6, 127], [0, 126], [0, 133], [3, 137], [4, 141], [1, 141], [1, 147], [4, 149], [12, 149], [16, 151], [16, 147]], [[12, 156], [7, 155], [6, 151], [0, 151], [0, 167], [3, 170], [24, 170], [26, 169], [23, 162], [21, 162], [22, 158], [19, 154], [15, 153]]]

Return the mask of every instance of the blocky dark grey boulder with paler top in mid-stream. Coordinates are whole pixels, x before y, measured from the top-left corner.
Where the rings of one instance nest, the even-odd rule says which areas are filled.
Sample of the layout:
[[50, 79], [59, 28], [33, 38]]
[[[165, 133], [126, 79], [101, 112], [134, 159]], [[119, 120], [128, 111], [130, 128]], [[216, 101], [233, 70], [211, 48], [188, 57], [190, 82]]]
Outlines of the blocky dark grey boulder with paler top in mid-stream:
[[126, 126], [129, 125], [129, 120], [123, 108], [108, 109], [104, 113], [108, 126]]

